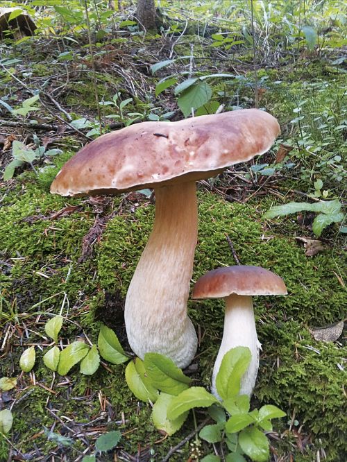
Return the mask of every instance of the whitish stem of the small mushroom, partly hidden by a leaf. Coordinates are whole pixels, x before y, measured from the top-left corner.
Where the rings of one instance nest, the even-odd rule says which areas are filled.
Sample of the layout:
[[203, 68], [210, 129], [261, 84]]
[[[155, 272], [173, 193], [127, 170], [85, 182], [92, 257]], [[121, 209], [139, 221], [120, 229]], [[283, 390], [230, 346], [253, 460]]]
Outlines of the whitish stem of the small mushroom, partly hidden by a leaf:
[[[212, 393], [219, 398], [216, 377], [224, 354], [231, 348], [246, 346], [251, 350], [251, 363], [242, 377], [240, 395], [251, 396], [259, 368], [260, 343], [255, 330], [253, 302], [251, 296], [239, 296], [235, 293], [225, 298], [226, 314], [224, 318], [223, 339], [214, 363], [212, 374]], [[220, 398], [219, 398], [220, 399]]]

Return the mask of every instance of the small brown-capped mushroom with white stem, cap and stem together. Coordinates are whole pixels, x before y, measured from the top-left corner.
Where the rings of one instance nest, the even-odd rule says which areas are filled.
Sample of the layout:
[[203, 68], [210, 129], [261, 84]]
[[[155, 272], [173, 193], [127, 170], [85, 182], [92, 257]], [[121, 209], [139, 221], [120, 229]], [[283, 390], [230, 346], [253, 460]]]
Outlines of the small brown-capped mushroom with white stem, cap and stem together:
[[251, 363], [242, 377], [240, 395], [251, 396], [259, 368], [260, 343], [255, 329], [252, 296], [286, 295], [283, 280], [259, 266], [217, 268], [201, 276], [192, 298], [224, 298], [226, 313], [223, 338], [212, 373], [212, 393], [218, 396], [216, 377], [221, 360], [231, 348], [245, 346], [251, 350]]

